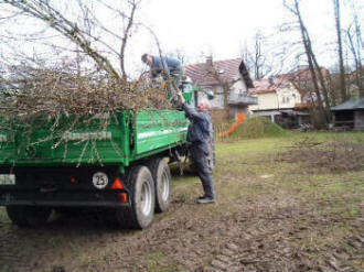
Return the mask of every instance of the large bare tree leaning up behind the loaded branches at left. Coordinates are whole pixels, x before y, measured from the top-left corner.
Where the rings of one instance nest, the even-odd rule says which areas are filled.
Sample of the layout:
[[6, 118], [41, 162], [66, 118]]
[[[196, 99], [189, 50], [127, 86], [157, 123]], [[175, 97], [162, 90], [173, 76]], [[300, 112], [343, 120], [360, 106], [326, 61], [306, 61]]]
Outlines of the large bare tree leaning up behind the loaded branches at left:
[[[120, 18], [122, 24], [122, 33], [116, 33], [103, 25], [100, 20], [95, 14], [95, 10], [92, 4], [87, 4], [87, 1], [77, 0], [71, 4], [78, 4], [82, 12], [81, 21], [72, 19], [66, 15], [64, 10], [56, 7], [55, 2], [42, 1], [42, 0], [30, 0], [30, 1], [17, 1], [17, 0], [0, 0], [0, 4], [8, 4], [15, 8], [17, 13], [20, 15], [28, 15], [38, 19], [49, 25], [56, 32], [61, 33], [68, 41], [76, 44], [84, 54], [89, 56], [95, 61], [98, 68], [106, 70], [110, 77], [118, 79], [127, 79], [127, 72], [125, 68], [125, 52], [128, 43], [128, 39], [131, 35], [132, 26], [135, 25], [135, 13], [140, 4], [141, 0], [128, 0], [126, 3], [129, 6], [127, 11], [121, 9], [116, 9], [114, 6], [107, 4], [106, 1], [98, 0], [97, 3], [108, 8], [118, 18]], [[60, 3], [58, 3], [60, 4]], [[69, 4], [69, 3], [68, 3]], [[67, 3], [64, 3], [66, 7]], [[20, 12], [20, 13], [19, 13]], [[120, 48], [116, 50], [115, 46], [107, 43], [99, 33], [93, 31], [93, 28], [98, 29], [99, 33], [107, 33], [120, 41]], [[117, 29], [117, 28], [116, 28]], [[100, 50], [98, 45], [101, 45], [111, 54], [119, 58], [121, 75], [118, 73], [117, 68], [113, 65], [105, 54], [105, 51]]]

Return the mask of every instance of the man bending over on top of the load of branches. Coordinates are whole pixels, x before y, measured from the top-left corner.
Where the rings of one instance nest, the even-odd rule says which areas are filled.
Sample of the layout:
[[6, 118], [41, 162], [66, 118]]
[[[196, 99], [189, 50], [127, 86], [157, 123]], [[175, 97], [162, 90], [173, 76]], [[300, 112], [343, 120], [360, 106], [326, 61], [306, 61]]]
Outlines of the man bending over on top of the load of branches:
[[150, 75], [152, 78], [162, 75], [164, 79], [172, 76], [175, 87], [180, 86], [183, 68], [180, 61], [172, 57], [159, 57], [149, 54], [143, 54], [141, 61], [150, 67]]

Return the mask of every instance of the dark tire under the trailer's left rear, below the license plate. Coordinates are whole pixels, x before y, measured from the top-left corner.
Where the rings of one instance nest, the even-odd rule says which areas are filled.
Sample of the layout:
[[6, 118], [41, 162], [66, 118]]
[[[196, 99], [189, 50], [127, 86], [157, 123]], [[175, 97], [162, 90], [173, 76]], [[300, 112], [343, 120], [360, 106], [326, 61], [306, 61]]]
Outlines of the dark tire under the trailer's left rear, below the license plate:
[[36, 206], [7, 206], [9, 218], [19, 227], [36, 227], [45, 224], [52, 208]]

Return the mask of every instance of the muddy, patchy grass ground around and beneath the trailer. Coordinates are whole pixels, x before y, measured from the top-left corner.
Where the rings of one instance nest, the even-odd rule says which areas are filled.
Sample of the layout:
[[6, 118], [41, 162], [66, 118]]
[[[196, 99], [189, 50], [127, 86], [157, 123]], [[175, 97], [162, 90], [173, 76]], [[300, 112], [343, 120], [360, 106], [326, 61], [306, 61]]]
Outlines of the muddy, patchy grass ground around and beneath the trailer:
[[[0, 271], [364, 271], [364, 143], [313, 139], [218, 144], [217, 203], [195, 204], [199, 179], [174, 175], [170, 210], [143, 231], [94, 213], [20, 229], [1, 208]], [[355, 167], [335, 171], [328, 150]]]

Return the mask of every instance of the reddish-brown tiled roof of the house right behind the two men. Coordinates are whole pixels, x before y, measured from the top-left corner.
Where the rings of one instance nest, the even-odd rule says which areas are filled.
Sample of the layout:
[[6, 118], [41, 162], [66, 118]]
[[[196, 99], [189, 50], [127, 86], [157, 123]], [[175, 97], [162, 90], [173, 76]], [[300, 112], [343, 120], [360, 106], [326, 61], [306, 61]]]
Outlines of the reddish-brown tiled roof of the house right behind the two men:
[[[242, 58], [226, 59], [213, 62], [213, 67], [216, 72], [220, 72], [221, 77], [225, 80], [234, 80], [238, 78], [239, 65]], [[191, 77], [192, 83], [200, 86], [218, 85], [218, 81], [214, 78], [208, 70], [211, 70], [211, 64], [197, 63], [184, 66], [185, 74]]]

